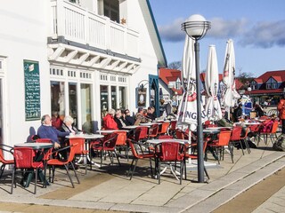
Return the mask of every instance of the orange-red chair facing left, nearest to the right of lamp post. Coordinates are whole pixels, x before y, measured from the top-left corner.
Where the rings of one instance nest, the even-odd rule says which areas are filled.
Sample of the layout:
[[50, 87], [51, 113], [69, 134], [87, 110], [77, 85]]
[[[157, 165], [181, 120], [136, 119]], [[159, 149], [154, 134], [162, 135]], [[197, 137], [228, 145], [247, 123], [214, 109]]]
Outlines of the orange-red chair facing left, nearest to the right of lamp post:
[[214, 152], [216, 153], [216, 160], [220, 164], [220, 160], [224, 160], [224, 146], [228, 146], [232, 158], [232, 163], [233, 163], [233, 154], [232, 154], [232, 148], [229, 146], [230, 138], [232, 135], [231, 130], [224, 130], [221, 131], [218, 134], [218, 138], [216, 140], [213, 140], [211, 143], [208, 143], [209, 147], [212, 147], [214, 149]]

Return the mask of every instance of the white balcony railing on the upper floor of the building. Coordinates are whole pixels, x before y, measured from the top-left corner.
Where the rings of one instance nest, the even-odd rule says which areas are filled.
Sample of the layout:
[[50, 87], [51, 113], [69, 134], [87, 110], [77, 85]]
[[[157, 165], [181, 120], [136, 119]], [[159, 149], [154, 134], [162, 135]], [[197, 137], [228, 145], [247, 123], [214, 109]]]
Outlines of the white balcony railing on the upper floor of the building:
[[69, 1], [51, 0], [51, 6], [53, 39], [64, 36], [72, 42], [140, 58], [138, 32]]

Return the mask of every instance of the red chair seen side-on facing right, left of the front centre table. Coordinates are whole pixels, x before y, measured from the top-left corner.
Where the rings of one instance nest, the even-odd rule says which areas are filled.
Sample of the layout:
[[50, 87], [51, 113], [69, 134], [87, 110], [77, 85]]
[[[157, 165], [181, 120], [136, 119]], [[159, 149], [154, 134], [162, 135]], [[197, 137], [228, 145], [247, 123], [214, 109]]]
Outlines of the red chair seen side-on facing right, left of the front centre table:
[[[143, 153], [142, 151], [142, 143], [138, 141], [134, 141], [131, 139], [127, 139], [127, 144], [129, 147], [131, 147], [132, 154], [133, 154], [133, 161], [131, 163], [130, 169], [128, 170], [127, 177], [130, 175], [130, 180], [132, 179], [134, 175], [134, 170], [136, 168], [136, 164], [139, 159], [150, 159], [150, 165], [151, 165], [151, 159], [155, 158], [154, 153]], [[139, 150], [138, 150], [139, 148]], [[134, 167], [134, 168], [133, 168]], [[152, 173], [152, 165], [151, 165], [151, 176], [153, 175]]]

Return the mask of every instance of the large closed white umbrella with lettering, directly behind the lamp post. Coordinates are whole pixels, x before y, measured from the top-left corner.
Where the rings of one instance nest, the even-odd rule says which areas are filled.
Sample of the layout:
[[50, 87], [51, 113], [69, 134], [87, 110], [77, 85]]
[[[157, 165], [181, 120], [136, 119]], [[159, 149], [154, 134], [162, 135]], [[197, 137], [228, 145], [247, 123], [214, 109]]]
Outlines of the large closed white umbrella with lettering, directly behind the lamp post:
[[[195, 69], [195, 54], [194, 42], [185, 37], [183, 51], [183, 97], [178, 107], [177, 125], [187, 124], [191, 130], [196, 130], [197, 127], [197, 93], [196, 93], [196, 69]], [[201, 103], [201, 120], [207, 120], [204, 107]]]

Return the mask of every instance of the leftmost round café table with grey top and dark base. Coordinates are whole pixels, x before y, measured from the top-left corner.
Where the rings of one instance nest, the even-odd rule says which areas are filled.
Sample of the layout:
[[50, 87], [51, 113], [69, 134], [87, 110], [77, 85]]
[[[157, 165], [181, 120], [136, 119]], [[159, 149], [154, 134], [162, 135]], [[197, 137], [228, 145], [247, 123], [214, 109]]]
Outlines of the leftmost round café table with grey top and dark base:
[[[15, 144], [15, 147], [31, 147], [34, 150], [48, 150], [50, 148], [53, 148], [53, 144], [52, 143], [21, 143], [21, 144]], [[37, 159], [35, 160], [37, 161]], [[43, 161], [43, 160], [41, 160]], [[28, 187], [31, 179], [33, 177], [33, 173], [28, 172], [24, 174], [24, 177], [22, 178], [22, 185], [26, 188]], [[49, 183], [47, 182], [46, 178], [45, 178], [45, 174], [43, 174], [43, 171], [39, 171], [38, 172], [38, 177], [44, 182], [45, 181], [45, 185], [49, 185]]]

